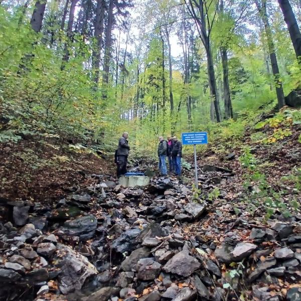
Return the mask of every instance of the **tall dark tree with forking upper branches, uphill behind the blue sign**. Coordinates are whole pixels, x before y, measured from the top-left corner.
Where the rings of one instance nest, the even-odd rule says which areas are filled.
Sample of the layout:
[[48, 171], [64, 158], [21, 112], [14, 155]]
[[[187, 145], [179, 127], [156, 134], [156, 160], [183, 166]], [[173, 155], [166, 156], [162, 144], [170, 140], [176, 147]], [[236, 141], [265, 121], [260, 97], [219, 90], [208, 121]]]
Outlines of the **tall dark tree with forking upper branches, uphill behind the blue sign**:
[[[210, 94], [215, 109], [216, 121], [220, 122], [221, 116], [220, 116], [220, 109], [219, 109], [219, 103], [217, 98], [214, 64], [213, 64], [212, 49], [210, 44], [210, 34], [217, 14], [218, 1], [213, 1], [213, 0], [211, 1], [184, 0], [184, 1], [191, 17], [194, 19], [196, 23], [199, 37], [206, 50]], [[212, 10], [212, 16], [210, 18], [209, 10], [212, 9], [212, 6], [213, 6], [213, 10]]]

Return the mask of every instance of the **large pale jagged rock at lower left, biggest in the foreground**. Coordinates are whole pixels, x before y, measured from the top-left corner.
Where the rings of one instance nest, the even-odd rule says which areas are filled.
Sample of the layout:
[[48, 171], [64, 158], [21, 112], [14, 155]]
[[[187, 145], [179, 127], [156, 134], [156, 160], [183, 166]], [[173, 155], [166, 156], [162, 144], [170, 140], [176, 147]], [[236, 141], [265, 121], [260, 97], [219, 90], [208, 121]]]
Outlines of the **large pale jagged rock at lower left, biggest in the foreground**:
[[[85, 280], [91, 275], [97, 274], [96, 267], [80, 253], [68, 246], [58, 244], [56, 266], [61, 269], [58, 275], [59, 288], [63, 294], [75, 289], [81, 289]], [[119, 290], [118, 290], [119, 291]]]

